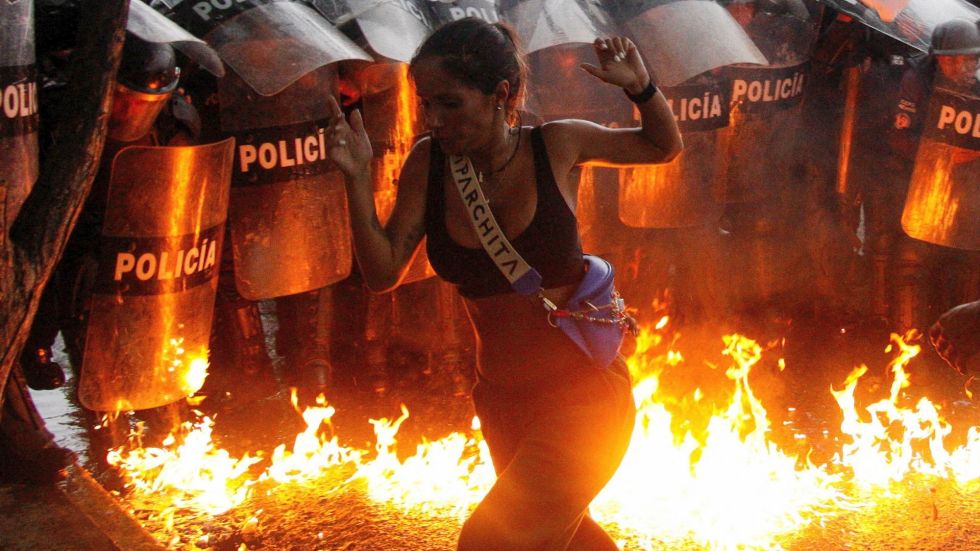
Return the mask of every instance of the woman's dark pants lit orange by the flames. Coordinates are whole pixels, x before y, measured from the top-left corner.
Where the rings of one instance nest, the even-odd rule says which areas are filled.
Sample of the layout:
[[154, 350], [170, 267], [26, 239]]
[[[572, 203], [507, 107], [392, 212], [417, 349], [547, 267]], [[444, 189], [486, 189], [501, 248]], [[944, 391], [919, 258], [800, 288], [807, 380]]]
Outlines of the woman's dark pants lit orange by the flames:
[[547, 389], [480, 382], [473, 401], [497, 482], [466, 521], [461, 550], [616, 549], [588, 506], [619, 467], [636, 408], [629, 371], [569, 366]]

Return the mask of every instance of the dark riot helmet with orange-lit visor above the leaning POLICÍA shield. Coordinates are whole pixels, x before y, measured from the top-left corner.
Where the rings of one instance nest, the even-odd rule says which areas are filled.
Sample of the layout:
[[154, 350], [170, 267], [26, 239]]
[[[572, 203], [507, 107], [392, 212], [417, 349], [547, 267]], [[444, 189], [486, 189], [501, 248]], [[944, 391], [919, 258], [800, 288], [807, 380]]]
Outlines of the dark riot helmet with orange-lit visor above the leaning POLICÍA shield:
[[170, 44], [148, 42], [127, 32], [113, 91], [109, 138], [132, 142], [145, 136], [179, 77], [177, 56]]

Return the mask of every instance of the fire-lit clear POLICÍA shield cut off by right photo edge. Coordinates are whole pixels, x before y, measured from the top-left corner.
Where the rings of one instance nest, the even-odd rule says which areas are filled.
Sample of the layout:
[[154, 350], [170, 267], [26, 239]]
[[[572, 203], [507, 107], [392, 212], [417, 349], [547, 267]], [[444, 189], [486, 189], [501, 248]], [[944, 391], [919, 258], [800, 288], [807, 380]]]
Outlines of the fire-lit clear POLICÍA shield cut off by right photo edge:
[[937, 245], [980, 250], [980, 87], [933, 89], [902, 228]]

